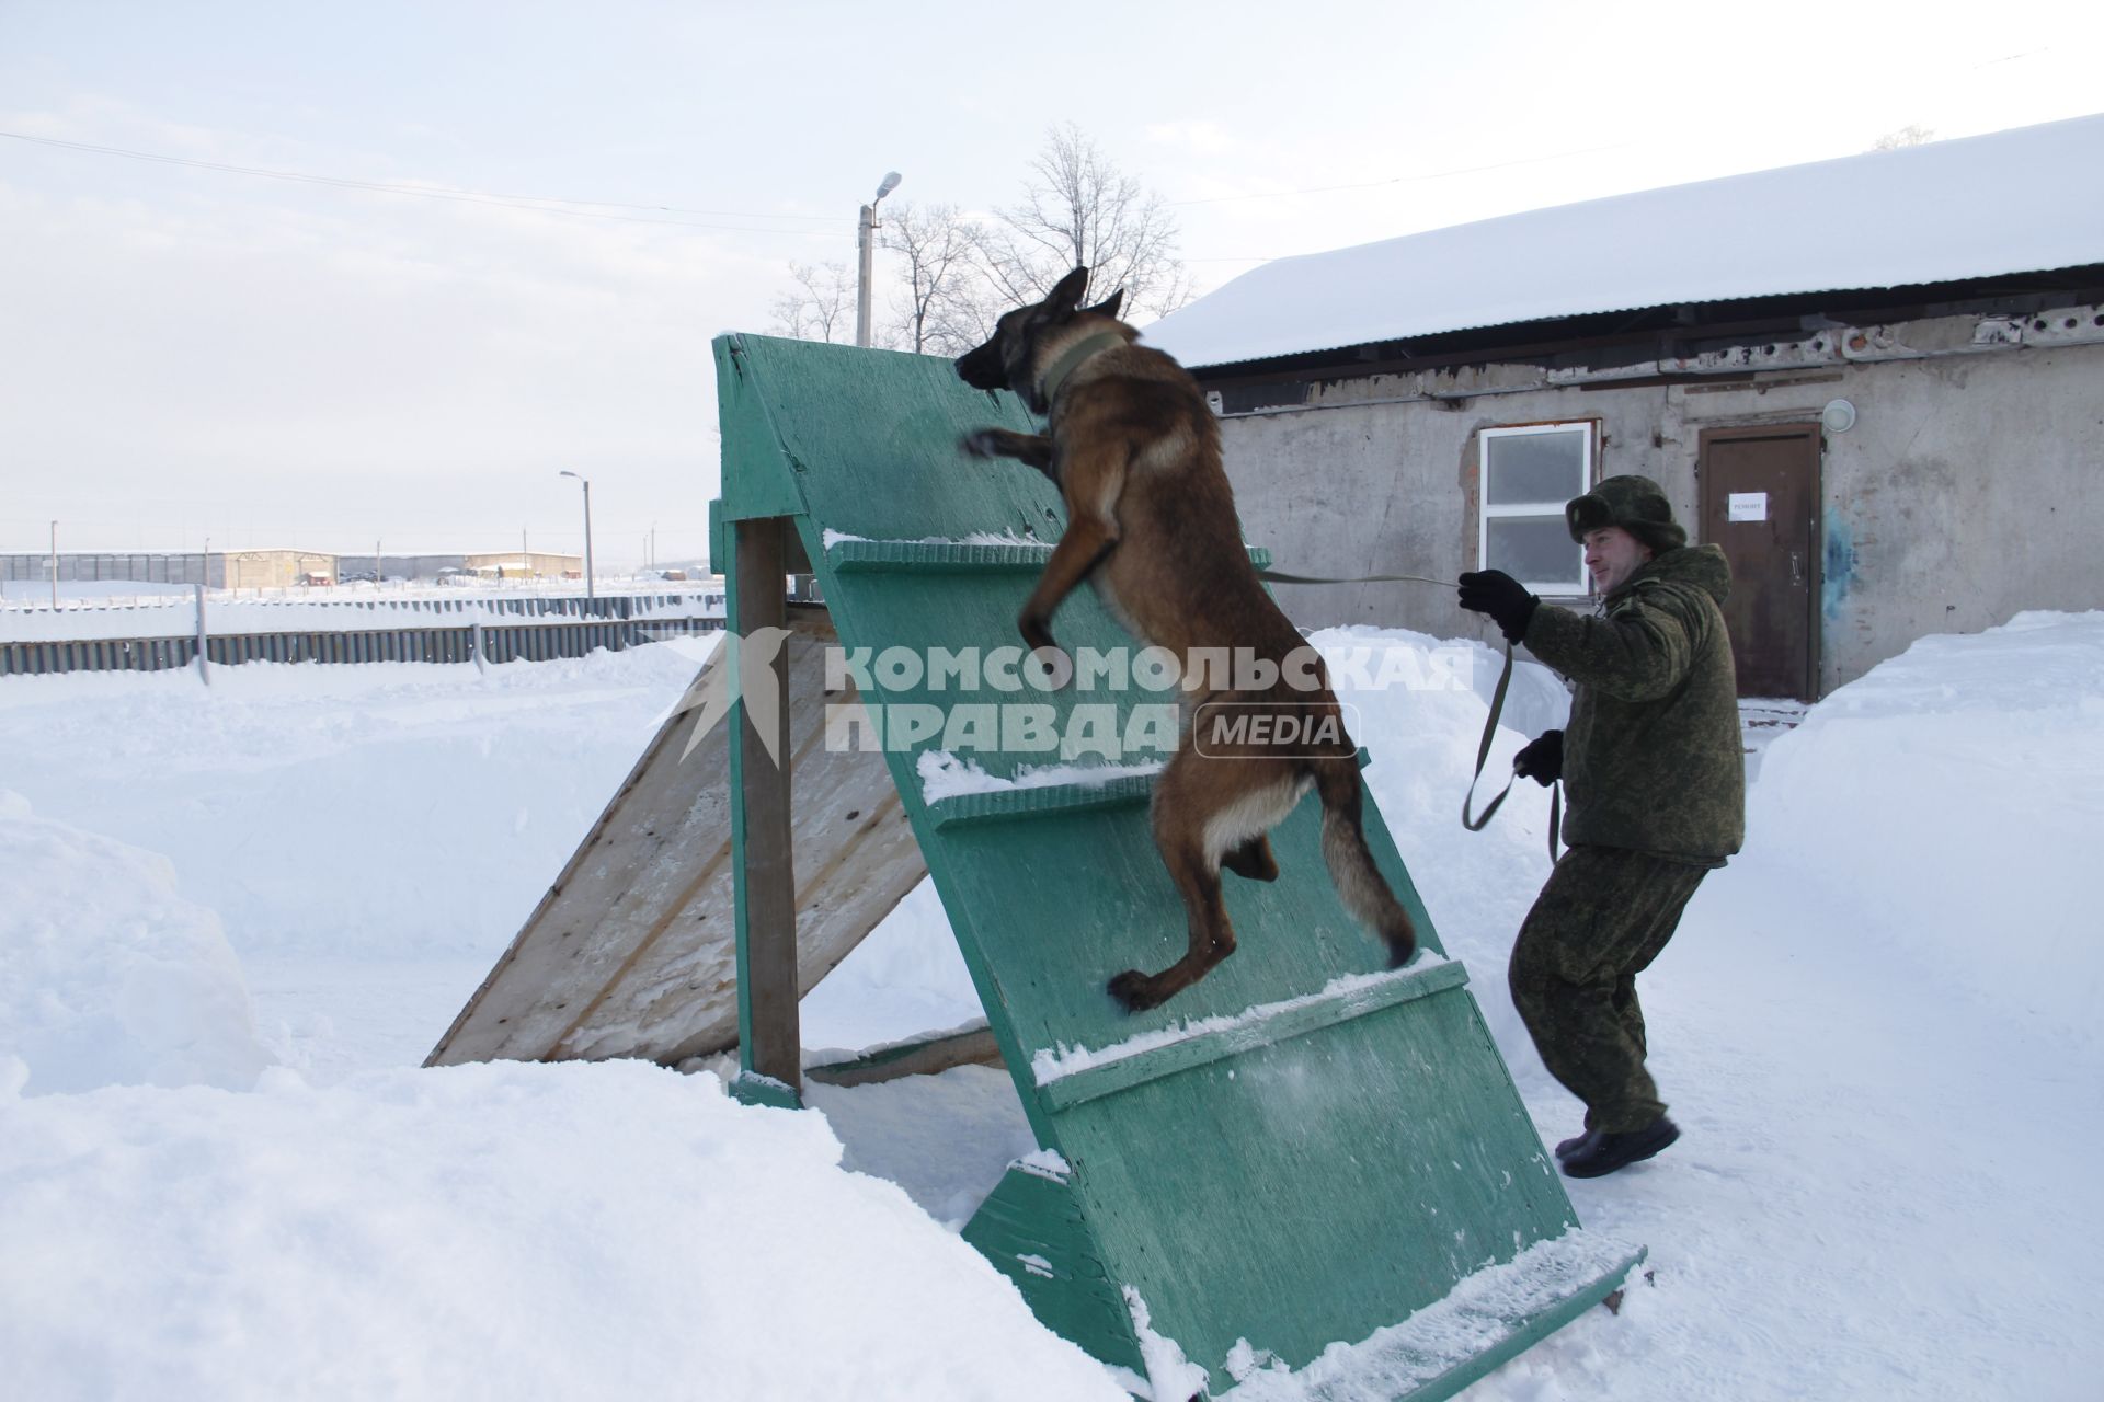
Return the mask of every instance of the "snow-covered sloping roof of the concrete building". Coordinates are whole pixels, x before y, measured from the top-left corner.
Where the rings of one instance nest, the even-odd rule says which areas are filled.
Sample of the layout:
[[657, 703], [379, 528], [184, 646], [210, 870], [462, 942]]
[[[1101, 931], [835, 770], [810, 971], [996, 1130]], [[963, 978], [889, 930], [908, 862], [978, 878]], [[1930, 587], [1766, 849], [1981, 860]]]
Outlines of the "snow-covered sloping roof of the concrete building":
[[1277, 259], [1145, 328], [1187, 366], [2104, 263], [2104, 116]]

